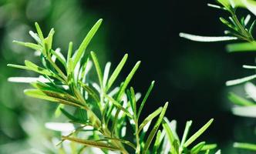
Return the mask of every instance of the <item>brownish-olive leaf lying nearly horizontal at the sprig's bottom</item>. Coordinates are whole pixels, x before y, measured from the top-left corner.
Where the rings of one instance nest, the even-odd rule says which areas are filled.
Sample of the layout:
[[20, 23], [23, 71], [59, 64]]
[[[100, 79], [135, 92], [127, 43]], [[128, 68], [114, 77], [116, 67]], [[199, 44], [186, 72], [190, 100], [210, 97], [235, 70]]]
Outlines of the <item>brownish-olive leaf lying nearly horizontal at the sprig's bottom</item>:
[[66, 136], [62, 136], [62, 139], [66, 139], [66, 140], [69, 140], [72, 142], [78, 142], [85, 146], [93, 146], [93, 147], [96, 147], [99, 149], [109, 149], [109, 150], [114, 150], [114, 151], [120, 151], [120, 149], [118, 147], [112, 146], [105, 142], [96, 142], [96, 141], [91, 141], [91, 140], [76, 139], [76, 138], [66, 137]]

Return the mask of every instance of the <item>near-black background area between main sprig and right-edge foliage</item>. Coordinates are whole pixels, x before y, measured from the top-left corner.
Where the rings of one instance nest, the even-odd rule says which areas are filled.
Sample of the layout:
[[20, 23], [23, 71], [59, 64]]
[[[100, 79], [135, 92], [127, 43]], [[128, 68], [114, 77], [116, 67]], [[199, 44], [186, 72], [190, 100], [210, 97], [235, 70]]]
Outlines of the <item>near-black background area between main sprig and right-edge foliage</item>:
[[[228, 54], [225, 51], [226, 43], [190, 42], [179, 37], [179, 32], [224, 35], [226, 27], [218, 18], [227, 15], [225, 12], [207, 7], [208, 2], [214, 1], [76, 2], [81, 9], [79, 15], [83, 16], [79, 22], [90, 20], [91, 26], [98, 18], [104, 20], [99, 30], [99, 36], [103, 41], [97, 44], [97, 39], [93, 40], [94, 46], [104, 46], [99, 50], [107, 49], [107, 52], [99, 51], [99, 59], [103, 59], [102, 64], [110, 61], [117, 65], [123, 55], [128, 53], [129, 59], [126, 71], [122, 73], [123, 78], [136, 61], [142, 61], [140, 71], [131, 83], [137, 92], [144, 94], [150, 82], [156, 80], [153, 93], [143, 111], [145, 115], [168, 101], [170, 107], [167, 116], [169, 119], [177, 119], [177, 131], [180, 136], [187, 120], [194, 121], [192, 132], [195, 132], [207, 120], [214, 118], [211, 129], [200, 139], [217, 142], [224, 150], [230, 149], [231, 142], [235, 140], [255, 142], [252, 136], [253, 129], [248, 127], [254, 126], [254, 120], [231, 114], [231, 102], [227, 100], [227, 92], [236, 88], [227, 89], [225, 86], [229, 79], [253, 73], [242, 69], [241, 65], [253, 65], [255, 54]], [[76, 16], [76, 13], [73, 12], [73, 15]], [[50, 23], [48, 20], [49, 18], [44, 18], [39, 21], [44, 29], [49, 30], [49, 27], [56, 25], [65, 32], [74, 28], [72, 24], [63, 24], [62, 27], [54, 20]], [[27, 21], [30, 26], [33, 22], [35, 21], [32, 19]], [[0, 36], [6, 32], [5, 27], [0, 30]], [[78, 37], [76, 39], [82, 40], [83, 35]], [[5, 64], [10, 62], [10, 59], [6, 59], [5, 56], [2, 61]], [[19, 75], [18, 72], [16, 74]], [[4, 79], [5, 77], [3, 81]]]

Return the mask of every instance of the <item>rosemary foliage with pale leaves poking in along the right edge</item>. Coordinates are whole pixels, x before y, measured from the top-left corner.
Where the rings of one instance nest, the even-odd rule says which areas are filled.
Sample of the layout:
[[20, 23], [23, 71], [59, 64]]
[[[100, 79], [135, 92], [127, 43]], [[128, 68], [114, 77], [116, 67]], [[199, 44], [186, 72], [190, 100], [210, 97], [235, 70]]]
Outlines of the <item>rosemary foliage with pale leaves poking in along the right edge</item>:
[[[256, 20], [251, 22], [251, 15], [238, 18], [236, 15], [237, 8], [247, 8], [250, 12], [256, 15], [256, 2], [251, 0], [217, 0], [218, 5], [208, 4], [208, 6], [221, 9], [227, 12], [230, 16], [228, 19], [220, 17], [221, 22], [227, 25], [228, 30], [224, 31], [226, 36], [206, 37], [200, 35], [190, 35], [187, 33], [180, 33], [180, 37], [190, 39], [198, 42], [221, 42], [237, 40], [238, 43], [227, 45], [228, 52], [256, 52], [256, 40], [253, 36], [253, 30]], [[255, 65], [243, 65], [244, 69], [256, 69]], [[248, 94], [249, 99], [244, 99], [239, 95], [231, 92], [228, 99], [234, 103], [232, 112], [234, 115], [246, 116], [256, 118], [256, 86], [249, 82], [255, 79], [256, 75], [250, 75], [242, 79], [234, 79], [227, 81], [226, 85], [238, 85], [245, 83], [244, 89]], [[256, 144], [248, 142], [234, 142], [234, 147], [239, 149], [248, 149], [256, 152]]]

